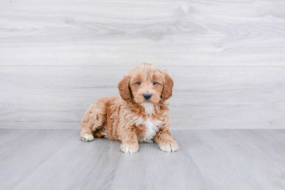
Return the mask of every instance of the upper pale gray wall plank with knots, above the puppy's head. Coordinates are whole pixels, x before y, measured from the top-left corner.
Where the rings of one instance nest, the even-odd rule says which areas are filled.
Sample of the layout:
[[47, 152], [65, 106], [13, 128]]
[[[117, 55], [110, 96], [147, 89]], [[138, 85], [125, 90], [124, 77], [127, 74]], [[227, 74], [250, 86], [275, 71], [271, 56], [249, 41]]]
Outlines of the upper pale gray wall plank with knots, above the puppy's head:
[[285, 1], [0, 1], [0, 65], [284, 66]]

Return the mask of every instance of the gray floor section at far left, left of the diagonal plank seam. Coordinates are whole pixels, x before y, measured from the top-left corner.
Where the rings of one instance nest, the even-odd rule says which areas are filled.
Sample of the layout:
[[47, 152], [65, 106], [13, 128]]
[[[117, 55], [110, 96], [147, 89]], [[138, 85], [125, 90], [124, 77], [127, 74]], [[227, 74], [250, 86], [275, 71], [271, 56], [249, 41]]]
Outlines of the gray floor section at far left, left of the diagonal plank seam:
[[[6, 130], [7, 131], [7, 130]], [[0, 189], [11, 189], [47, 160], [78, 131], [11, 130], [0, 146]], [[5, 132], [1, 129], [0, 133]]]

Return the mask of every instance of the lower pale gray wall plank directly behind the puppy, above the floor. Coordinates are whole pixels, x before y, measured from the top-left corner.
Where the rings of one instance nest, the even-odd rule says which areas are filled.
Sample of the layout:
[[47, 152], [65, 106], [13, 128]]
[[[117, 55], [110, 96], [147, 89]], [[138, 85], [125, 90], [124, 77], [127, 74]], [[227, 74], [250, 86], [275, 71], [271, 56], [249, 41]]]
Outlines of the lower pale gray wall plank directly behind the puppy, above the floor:
[[[132, 66], [2, 66], [0, 128], [80, 129]], [[172, 129], [284, 129], [285, 67], [164, 66]]]

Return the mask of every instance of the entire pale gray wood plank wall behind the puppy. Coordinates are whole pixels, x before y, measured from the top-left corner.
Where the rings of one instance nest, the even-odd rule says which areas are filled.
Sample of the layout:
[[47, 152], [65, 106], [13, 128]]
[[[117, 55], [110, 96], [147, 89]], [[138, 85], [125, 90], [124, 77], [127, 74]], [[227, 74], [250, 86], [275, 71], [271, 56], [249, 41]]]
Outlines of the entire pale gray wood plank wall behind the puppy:
[[285, 1], [0, 1], [0, 128], [80, 129], [143, 61], [172, 129], [285, 128]]

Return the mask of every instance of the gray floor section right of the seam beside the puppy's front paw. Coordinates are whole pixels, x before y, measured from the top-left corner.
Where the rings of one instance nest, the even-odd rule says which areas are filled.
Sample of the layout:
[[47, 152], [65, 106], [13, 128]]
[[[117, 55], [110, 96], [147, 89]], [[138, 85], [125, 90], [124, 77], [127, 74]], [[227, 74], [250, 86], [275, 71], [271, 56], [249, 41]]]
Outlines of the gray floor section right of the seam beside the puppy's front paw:
[[[179, 131], [214, 189], [284, 189], [285, 135], [276, 130]], [[222, 187], [222, 188], [221, 188]]]

